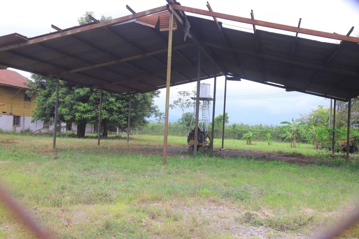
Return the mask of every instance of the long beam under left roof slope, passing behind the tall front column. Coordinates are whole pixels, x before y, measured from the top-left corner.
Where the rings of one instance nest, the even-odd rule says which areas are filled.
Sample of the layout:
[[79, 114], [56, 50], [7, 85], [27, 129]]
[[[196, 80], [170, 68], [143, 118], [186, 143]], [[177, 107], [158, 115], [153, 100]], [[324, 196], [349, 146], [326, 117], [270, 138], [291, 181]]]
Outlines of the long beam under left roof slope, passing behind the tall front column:
[[[191, 47], [194, 46], [195, 43], [186, 43], [186, 44], [182, 44], [176, 47], [173, 47], [174, 49], [181, 49], [181, 48], [186, 48], [186, 47]], [[164, 53], [167, 52], [167, 48], [165, 49], [160, 49], [157, 51], [153, 51], [153, 52], [148, 52], [148, 53], [144, 53], [144, 54], [137, 54], [135, 56], [130, 56], [130, 57], [125, 57], [125, 58], [121, 58], [121, 59], [117, 59], [114, 61], [108, 61], [108, 62], [103, 62], [103, 63], [99, 63], [99, 64], [93, 64], [92, 66], [85, 66], [85, 67], [80, 67], [80, 68], [76, 68], [76, 69], [71, 69], [68, 71], [63, 71], [63, 72], [58, 72], [56, 74], [51, 74], [48, 75], [47, 77], [54, 77], [57, 74], [58, 75], [67, 75], [67, 74], [71, 74], [71, 73], [76, 73], [76, 72], [80, 72], [80, 71], [87, 71], [87, 70], [91, 70], [91, 69], [95, 69], [95, 68], [99, 68], [99, 67], [103, 67], [103, 66], [109, 66], [109, 65], [113, 65], [113, 64], [118, 64], [118, 63], [122, 63], [122, 62], [126, 62], [126, 61], [132, 61], [135, 59], [140, 59], [143, 57], [148, 57], [148, 56], [152, 56], [155, 54], [160, 54], [160, 53]]]

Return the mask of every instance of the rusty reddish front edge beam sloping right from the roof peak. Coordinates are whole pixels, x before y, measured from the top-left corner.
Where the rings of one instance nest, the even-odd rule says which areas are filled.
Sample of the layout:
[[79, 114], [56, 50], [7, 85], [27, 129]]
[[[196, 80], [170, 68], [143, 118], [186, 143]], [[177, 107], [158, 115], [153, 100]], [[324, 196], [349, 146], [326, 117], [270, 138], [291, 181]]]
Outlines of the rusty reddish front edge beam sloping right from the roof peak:
[[298, 32], [298, 33], [303, 33], [303, 34], [307, 34], [307, 35], [313, 35], [313, 36], [317, 36], [317, 37], [325, 37], [325, 38], [331, 38], [331, 39], [336, 39], [336, 40], [346, 40], [348, 42], [359, 43], [359, 38], [358, 37], [349, 37], [349, 36], [346, 36], [346, 35], [340, 35], [340, 34], [328, 33], [328, 32], [321, 32], [321, 31], [311, 30], [311, 29], [306, 29], [306, 28], [297, 28], [297, 27], [283, 25], [283, 24], [271, 23], [271, 22], [268, 22], [268, 21], [253, 20], [253, 19], [250, 19], [250, 18], [243, 18], [241, 16], [234, 16], [234, 15], [229, 15], [229, 14], [216, 13], [216, 12], [213, 12], [213, 11], [206, 11], [206, 10], [203, 10], [203, 9], [190, 8], [190, 7], [180, 6], [180, 5], [176, 5], [176, 4], [171, 4], [169, 9], [171, 9], [171, 7], [174, 10], [186, 11], [188, 13], [196, 13], [196, 14], [200, 14], [200, 15], [206, 15], [206, 16], [211, 16], [211, 17], [216, 17], [216, 18], [222, 18], [222, 19], [227, 19], [227, 20], [232, 20], [232, 21], [238, 21], [238, 22], [241, 22], [241, 23], [254, 24], [254, 25], [262, 26], [262, 27], [275, 28], [275, 29], [285, 30], [285, 31], [289, 31], [289, 32]]

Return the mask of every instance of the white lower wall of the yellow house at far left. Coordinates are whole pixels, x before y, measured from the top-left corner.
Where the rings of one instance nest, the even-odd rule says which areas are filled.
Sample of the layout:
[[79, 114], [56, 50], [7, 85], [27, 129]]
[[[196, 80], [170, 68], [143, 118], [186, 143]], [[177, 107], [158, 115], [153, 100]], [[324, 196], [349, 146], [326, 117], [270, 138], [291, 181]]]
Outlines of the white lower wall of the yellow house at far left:
[[17, 132], [25, 129], [31, 129], [32, 131], [43, 128], [43, 121], [36, 120], [35, 122], [31, 122], [32, 118], [29, 116], [21, 116], [20, 119], [20, 127], [13, 126], [13, 115], [0, 114], [0, 128], [3, 130], [11, 131], [16, 130]]

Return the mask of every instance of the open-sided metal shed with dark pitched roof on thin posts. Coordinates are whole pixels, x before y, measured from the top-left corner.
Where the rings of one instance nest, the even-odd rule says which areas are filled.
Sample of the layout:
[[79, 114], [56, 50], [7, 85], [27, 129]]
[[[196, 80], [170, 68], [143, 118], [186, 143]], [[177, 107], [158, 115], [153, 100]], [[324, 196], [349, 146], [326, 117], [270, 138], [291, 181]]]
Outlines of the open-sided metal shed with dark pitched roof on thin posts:
[[[129, 95], [166, 87], [164, 163], [170, 86], [199, 85], [224, 75], [226, 80], [242, 78], [335, 101], [350, 102], [359, 95], [359, 38], [349, 36], [353, 28], [347, 35], [325, 33], [300, 28], [300, 21], [292, 27], [255, 20], [253, 12], [249, 19], [207, 6], [209, 11], [168, 0], [168, 5], [140, 13], [129, 8], [131, 15], [109, 21], [92, 18], [93, 23], [68, 29], [52, 25], [55, 32], [33, 38], [5, 35], [0, 37], [0, 65]], [[217, 18], [252, 24], [253, 33], [224, 28]], [[297, 34], [266, 32], [256, 25]], [[298, 33], [341, 42], [309, 40]], [[55, 111], [57, 115], [57, 107]]]

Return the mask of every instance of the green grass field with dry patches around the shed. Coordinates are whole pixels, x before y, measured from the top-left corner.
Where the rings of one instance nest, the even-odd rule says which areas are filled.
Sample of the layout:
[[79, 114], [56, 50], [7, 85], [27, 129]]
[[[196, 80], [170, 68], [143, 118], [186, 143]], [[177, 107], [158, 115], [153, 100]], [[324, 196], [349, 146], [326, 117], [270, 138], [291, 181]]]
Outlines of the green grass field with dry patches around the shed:
[[[184, 145], [185, 138], [169, 137]], [[130, 145], [161, 145], [132, 136]], [[317, 155], [312, 145], [226, 140], [225, 147]], [[125, 139], [0, 134], [0, 178], [60, 238], [301, 238], [340, 220], [358, 202], [359, 171], [201, 153], [121, 152]], [[215, 147], [220, 141], [215, 141]], [[250, 230], [249, 230], [250, 229]], [[298, 234], [300, 233], [300, 235]], [[358, 238], [359, 227], [343, 238]], [[0, 204], [0, 238], [30, 238]]]

